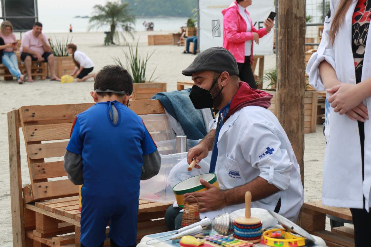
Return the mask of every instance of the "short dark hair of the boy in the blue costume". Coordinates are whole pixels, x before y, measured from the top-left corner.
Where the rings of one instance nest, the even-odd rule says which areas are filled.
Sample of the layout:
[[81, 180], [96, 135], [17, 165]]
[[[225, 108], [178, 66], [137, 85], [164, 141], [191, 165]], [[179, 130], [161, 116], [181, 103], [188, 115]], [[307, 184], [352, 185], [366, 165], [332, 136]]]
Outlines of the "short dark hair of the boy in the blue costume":
[[[115, 91], [125, 91], [128, 95], [133, 92], [133, 79], [129, 72], [119, 65], [107, 65], [103, 69], [99, 70], [96, 75], [94, 82], [94, 90], [106, 90], [111, 89]], [[111, 96], [110, 92], [98, 93], [98, 95], [104, 97], [106, 95]], [[118, 96], [121, 94], [116, 93]]]

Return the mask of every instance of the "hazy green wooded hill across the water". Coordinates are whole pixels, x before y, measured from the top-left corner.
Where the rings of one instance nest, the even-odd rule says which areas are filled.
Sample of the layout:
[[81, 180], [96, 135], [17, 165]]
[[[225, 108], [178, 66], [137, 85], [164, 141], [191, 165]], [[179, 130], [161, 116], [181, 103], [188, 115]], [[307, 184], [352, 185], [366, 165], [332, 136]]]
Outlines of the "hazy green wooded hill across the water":
[[141, 16], [189, 17], [197, 0], [121, 0], [128, 3], [133, 14]]

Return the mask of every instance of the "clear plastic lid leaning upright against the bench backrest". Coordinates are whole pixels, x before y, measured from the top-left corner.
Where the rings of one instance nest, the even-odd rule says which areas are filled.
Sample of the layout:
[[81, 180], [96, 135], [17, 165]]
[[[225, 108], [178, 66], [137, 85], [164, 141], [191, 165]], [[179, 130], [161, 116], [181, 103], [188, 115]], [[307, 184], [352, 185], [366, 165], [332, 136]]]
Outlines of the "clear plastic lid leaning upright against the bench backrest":
[[139, 115], [154, 142], [168, 141], [175, 139], [173, 130], [169, 124], [166, 114]]

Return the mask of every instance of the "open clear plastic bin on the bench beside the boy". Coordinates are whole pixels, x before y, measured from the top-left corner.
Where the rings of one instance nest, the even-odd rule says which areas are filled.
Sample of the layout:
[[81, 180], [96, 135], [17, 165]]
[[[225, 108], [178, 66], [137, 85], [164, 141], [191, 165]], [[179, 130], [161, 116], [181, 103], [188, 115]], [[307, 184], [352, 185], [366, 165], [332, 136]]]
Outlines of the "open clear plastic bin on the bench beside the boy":
[[[198, 141], [187, 139], [187, 152], [197, 144]], [[176, 154], [175, 140], [156, 142], [156, 145], [161, 155], [161, 168], [156, 176], [140, 182], [139, 199], [162, 203], [173, 202], [175, 201], [175, 195], [173, 188], [168, 182], [168, 175], [176, 164], [187, 157], [187, 152]], [[210, 164], [210, 158], [211, 151], [204, 161]]]

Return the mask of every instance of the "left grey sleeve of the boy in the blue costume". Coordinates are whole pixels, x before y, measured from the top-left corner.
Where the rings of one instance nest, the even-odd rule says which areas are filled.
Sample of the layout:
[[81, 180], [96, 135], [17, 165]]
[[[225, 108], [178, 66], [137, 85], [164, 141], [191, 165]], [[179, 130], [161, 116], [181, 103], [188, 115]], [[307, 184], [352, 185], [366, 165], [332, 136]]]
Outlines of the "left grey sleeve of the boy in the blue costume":
[[82, 178], [81, 155], [66, 150], [64, 167], [65, 171], [67, 172], [68, 179], [71, 180], [73, 184], [83, 184], [84, 180]]

